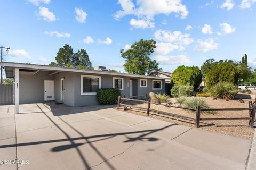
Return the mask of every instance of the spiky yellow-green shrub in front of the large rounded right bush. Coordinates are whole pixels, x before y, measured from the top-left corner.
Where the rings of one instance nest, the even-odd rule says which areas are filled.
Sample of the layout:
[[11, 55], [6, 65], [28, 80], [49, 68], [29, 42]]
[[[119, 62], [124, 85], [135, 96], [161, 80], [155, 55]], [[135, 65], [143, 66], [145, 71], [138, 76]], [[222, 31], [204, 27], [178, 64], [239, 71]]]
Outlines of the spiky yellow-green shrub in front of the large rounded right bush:
[[210, 89], [210, 93], [214, 97], [230, 99], [237, 94], [237, 87], [233, 83], [219, 82]]

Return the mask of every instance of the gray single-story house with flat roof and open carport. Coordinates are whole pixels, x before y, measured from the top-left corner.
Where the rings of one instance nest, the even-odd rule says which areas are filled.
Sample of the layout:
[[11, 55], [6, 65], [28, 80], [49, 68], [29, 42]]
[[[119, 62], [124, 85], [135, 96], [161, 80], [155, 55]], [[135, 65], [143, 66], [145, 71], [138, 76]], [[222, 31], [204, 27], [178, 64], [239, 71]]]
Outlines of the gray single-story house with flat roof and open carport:
[[15, 113], [19, 104], [56, 101], [69, 106], [98, 104], [99, 88], [117, 88], [122, 95], [164, 92], [164, 78], [146, 75], [82, 70], [48, 65], [0, 62], [7, 78], [14, 78]]

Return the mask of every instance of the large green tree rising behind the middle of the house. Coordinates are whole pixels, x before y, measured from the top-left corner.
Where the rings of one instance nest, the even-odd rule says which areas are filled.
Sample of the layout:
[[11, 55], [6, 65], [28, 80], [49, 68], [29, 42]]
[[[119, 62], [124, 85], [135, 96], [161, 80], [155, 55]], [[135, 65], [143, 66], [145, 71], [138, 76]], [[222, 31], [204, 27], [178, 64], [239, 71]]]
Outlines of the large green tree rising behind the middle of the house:
[[121, 57], [125, 59], [124, 70], [132, 74], [145, 75], [153, 71], [161, 71], [156, 60], [151, 60], [150, 55], [154, 53], [156, 41], [143, 40], [135, 42], [129, 50], [121, 49]]

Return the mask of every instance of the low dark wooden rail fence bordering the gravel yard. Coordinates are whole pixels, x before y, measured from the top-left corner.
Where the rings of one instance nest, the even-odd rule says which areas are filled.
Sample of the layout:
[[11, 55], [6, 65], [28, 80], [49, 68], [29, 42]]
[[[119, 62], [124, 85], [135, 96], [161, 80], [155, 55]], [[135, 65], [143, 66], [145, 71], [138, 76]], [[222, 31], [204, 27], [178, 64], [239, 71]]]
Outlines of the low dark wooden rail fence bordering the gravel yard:
[[[121, 102], [122, 100], [122, 102]], [[124, 104], [124, 101], [139, 101], [141, 103], [147, 103], [147, 108], [144, 107], [138, 107], [135, 105], [127, 105]], [[180, 109], [186, 109], [188, 111], [195, 111], [196, 112], [196, 117], [188, 117], [188, 116], [182, 116], [178, 114], [172, 114], [172, 113], [167, 113], [163, 111], [158, 111], [156, 109], [150, 108], [151, 104], [156, 104], [156, 105], [162, 105], [162, 106], [167, 106], [167, 107], [174, 107], [174, 108], [180, 108]], [[186, 108], [186, 107], [177, 107], [177, 106], [171, 106], [171, 105], [166, 105], [166, 104], [158, 104], [151, 102], [150, 100], [138, 100], [138, 99], [130, 99], [130, 98], [124, 98], [121, 96], [118, 96], [118, 101], [117, 101], [117, 109], [120, 108], [120, 106], [124, 106], [124, 110], [127, 109], [127, 107], [134, 107], [134, 108], [139, 108], [147, 111], [147, 116], [149, 116], [150, 111], [155, 112], [155, 113], [160, 113], [163, 115], [169, 115], [172, 117], [176, 118], [181, 118], [184, 120], [189, 120], [189, 121], [195, 121], [195, 126], [196, 128], [199, 128], [200, 126], [200, 121], [212, 121], [212, 120], [249, 120], [249, 126], [253, 128], [254, 126], [254, 120], [255, 120], [255, 113], [256, 113], [256, 101], [252, 102], [249, 101], [249, 107], [248, 108], [211, 108], [211, 109], [203, 109], [200, 106], [197, 106], [196, 109], [191, 109], [191, 108]], [[201, 118], [201, 112], [203, 111], [249, 111], [249, 117], [216, 117], [216, 118]]]

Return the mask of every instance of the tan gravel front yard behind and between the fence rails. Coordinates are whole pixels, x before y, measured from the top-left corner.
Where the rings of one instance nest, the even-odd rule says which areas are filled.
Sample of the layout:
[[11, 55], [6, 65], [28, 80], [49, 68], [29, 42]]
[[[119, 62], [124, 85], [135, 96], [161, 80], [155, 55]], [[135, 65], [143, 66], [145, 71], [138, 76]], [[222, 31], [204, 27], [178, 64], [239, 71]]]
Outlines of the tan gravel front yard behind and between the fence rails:
[[[241, 94], [244, 96], [243, 94]], [[239, 97], [241, 97], [241, 95]], [[249, 95], [250, 96], [250, 95]], [[250, 98], [248, 95], [244, 96], [244, 98]], [[255, 95], [251, 95], [251, 99], [244, 99], [244, 103], [240, 103], [238, 100], [229, 100], [225, 101], [223, 99], [213, 100], [212, 97], [201, 97], [209, 104], [212, 108], [247, 108], [249, 107], [248, 101], [255, 99]], [[170, 99], [171, 101], [177, 102], [174, 98]], [[138, 104], [136, 106], [147, 108], [147, 104]], [[175, 106], [175, 104], [173, 104]], [[159, 111], [164, 111], [172, 114], [178, 114], [183, 116], [188, 116], [195, 118], [195, 112], [186, 111], [181, 108], [173, 108], [173, 107], [165, 107], [161, 105], [151, 104], [150, 108], [157, 109]], [[123, 107], [121, 107], [123, 109]], [[129, 113], [138, 114], [142, 116], [146, 116], [146, 111], [138, 108], [129, 108], [127, 111]], [[150, 112], [149, 117], [156, 118], [159, 120], [182, 124], [186, 126], [195, 126], [194, 121], [181, 120], [180, 118], [171, 117], [168, 115], [157, 114], [154, 112]], [[217, 118], [217, 117], [249, 117], [249, 111], [217, 111], [216, 114], [207, 114], [201, 113], [201, 118]], [[206, 131], [212, 131], [217, 133], [222, 133], [226, 135], [231, 135], [234, 137], [239, 137], [243, 139], [252, 140], [254, 128], [249, 127], [249, 120], [221, 120], [221, 121], [200, 121], [200, 129]], [[256, 125], [256, 122], [255, 122]], [[254, 125], [254, 126], [255, 126]]]

